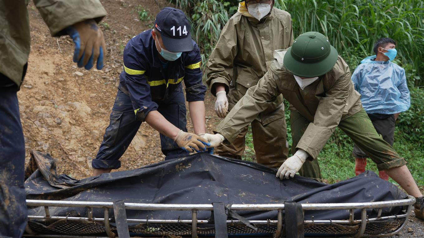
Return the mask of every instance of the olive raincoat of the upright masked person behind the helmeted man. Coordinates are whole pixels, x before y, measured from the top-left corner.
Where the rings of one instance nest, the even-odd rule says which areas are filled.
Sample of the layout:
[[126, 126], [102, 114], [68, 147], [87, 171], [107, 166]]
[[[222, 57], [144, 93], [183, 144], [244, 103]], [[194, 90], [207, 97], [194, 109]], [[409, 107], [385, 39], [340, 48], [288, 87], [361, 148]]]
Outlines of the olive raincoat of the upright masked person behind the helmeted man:
[[[293, 28], [288, 12], [273, 8], [271, 14], [260, 22], [237, 12], [223, 28], [206, 63], [206, 83], [214, 96], [214, 83], [226, 85], [231, 110], [268, 71], [274, 59], [273, 51], [286, 49], [292, 44]], [[283, 97], [278, 96], [266, 112], [275, 111], [282, 101]], [[284, 111], [274, 117], [258, 116], [257, 120], [266, 124], [282, 116]]]

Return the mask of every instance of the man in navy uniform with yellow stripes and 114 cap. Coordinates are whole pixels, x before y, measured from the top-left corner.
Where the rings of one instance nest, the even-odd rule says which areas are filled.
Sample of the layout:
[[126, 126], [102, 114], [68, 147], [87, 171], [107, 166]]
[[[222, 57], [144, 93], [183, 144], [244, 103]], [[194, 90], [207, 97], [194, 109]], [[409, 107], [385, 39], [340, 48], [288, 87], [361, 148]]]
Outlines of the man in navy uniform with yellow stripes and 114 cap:
[[[201, 57], [191, 39], [190, 24], [184, 13], [163, 8], [155, 27], [134, 36], [123, 53], [124, 71], [110, 124], [92, 161], [93, 175], [120, 167], [120, 157], [142, 122], [160, 133], [165, 160], [206, 151], [206, 132]], [[186, 86], [194, 132], [187, 133], [186, 107], [181, 82]]]

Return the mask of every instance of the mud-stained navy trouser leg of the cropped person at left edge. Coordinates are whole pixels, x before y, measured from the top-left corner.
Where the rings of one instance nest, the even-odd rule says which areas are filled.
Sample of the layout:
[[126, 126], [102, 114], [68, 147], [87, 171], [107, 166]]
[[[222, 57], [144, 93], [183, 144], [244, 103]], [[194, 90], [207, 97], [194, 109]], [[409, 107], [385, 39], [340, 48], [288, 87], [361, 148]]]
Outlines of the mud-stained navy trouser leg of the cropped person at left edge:
[[25, 230], [24, 166], [17, 93], [0, 88], [0, 237], [21, 237]]

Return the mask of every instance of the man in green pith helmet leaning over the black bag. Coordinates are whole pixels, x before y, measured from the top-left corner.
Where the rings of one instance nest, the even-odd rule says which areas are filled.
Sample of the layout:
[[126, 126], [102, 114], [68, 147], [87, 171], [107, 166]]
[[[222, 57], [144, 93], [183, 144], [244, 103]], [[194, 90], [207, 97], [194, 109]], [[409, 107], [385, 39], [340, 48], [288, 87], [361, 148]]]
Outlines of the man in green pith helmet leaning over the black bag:
[[294, 155], [284, 161], [276, 177], [288, 179], [299, 172], [321, 178], [318, 154], [339, 127], [379, 170], [416, 197], [415, 213], [423, 219], [423, 195], [406, 161], [375, 130], [354, 89], [349, 66], [321, 33], [303, 33], [287, 50], [274, 52], [268, 72], [220, 122], [216, 134], [208, 135], [211, 147], [234, 140], [237, 131], [280, 94], [290, 102]]

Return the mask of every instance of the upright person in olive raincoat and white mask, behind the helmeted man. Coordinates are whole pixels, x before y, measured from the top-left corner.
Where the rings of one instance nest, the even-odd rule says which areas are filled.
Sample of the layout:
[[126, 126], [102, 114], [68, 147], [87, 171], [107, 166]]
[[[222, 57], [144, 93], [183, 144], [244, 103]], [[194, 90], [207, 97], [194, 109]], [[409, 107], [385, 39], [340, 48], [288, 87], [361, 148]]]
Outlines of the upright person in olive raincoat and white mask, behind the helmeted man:
[[[217, 97], [215, 112], [221, 118], [267, 72], [273, 61], [273, 51], [293, 44], [290, 14], [273, 8], [273, 3], [273, 0], [241, 2], [209, 57], [206, 83]], [[251, 122], [258, 163], [276, 168], [288, 154], [282, 102], [283, 97], [279, 95]], [[231, 143], [215, 149], [218, 155], [241, 159], [247, 131], [248, 125], [238, 128]]]

